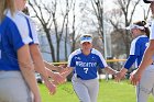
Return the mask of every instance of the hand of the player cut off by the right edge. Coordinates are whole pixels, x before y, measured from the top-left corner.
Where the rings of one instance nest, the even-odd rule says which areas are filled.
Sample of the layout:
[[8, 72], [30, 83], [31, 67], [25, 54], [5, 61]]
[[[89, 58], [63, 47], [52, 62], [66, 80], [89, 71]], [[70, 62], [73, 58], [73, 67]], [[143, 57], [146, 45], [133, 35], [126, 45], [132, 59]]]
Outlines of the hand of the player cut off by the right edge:
[[138, 70], [134, 70], [130, 76], [131, 84], [136, 86], [141, 80], [141, 73]]

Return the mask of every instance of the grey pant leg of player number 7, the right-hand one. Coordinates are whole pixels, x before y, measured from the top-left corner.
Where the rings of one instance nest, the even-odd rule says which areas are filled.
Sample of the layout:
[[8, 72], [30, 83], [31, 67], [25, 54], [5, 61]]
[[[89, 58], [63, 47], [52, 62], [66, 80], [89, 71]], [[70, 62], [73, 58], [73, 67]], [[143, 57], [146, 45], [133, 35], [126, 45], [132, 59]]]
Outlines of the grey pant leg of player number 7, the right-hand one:
[[87, 80], [87, 81], [85, 81], [85, 84], [88, 88], [91, 102], [97, 102], [97, 98], [98, 98], [98, 93], [99, 93], [99, 81], [98, 81], [98, 79]]

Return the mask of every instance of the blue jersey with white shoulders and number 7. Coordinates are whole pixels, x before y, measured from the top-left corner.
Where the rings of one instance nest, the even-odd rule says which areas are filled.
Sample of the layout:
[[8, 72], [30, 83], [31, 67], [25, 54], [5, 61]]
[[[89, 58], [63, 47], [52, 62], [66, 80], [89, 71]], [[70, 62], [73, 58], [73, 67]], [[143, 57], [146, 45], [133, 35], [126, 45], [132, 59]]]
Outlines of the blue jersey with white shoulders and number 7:
[[97, 49], [92, 48], [89, 55], [84, 55], [79, 48], [69, 55], [68, 67], [73, 67], [74, 72], [82, 80], [89, 80], [97, 78], [98, 68], [105, 68], [108, 65]]

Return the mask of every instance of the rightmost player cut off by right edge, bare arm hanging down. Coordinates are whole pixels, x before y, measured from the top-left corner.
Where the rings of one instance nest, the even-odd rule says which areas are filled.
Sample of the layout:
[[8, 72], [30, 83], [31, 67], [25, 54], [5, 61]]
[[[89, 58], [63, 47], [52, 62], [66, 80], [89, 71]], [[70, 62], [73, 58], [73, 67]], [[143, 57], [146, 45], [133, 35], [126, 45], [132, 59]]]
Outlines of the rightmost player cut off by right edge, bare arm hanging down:
[[[150, 8], [152, 14], [154, 15], [154, 0], [143, 0], [145, 3], [151, 3]], [[146, 95], [154, 93], [154, 66], [153, 66], [153, 56], [154, 56], [154, 21], [151, 24], [151, 35], [150, 35], [150, 45], [146, 48], [143, 59], [135, 72], [131, 75], [131, 83], [139, 86], [142, 89], [140, 102], [146, 102]], [[144, 71], [145, 70], [145, 71]], [[146, 78], [145, 78], [146, 77]], [[143, 83], [143, 86], [141, 86]], [[144, 93], [143, 93], [144, 92]]]

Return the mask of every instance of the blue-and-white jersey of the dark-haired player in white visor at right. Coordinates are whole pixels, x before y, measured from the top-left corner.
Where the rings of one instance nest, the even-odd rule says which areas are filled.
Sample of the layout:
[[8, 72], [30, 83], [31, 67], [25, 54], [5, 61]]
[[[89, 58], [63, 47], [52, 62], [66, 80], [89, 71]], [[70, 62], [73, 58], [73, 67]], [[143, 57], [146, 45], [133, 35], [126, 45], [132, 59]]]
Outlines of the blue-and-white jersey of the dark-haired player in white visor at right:
[[147, 46], [148, 37], [146, 35], [141, 35], [134, 38], [131, 43], [130, 56], [124, 68], [129, 69], [133, 64], [135, 64], [135, 68], [138, 68]]

